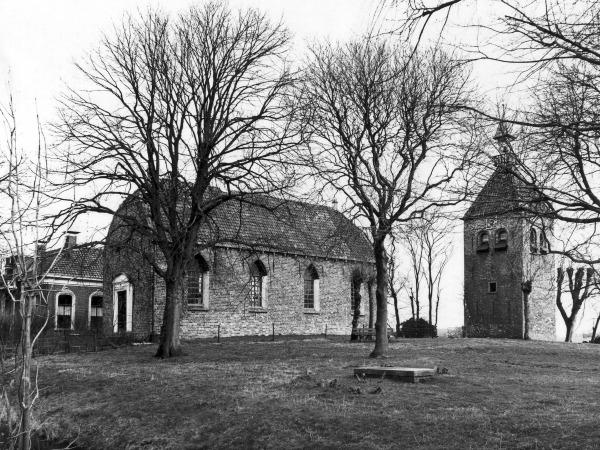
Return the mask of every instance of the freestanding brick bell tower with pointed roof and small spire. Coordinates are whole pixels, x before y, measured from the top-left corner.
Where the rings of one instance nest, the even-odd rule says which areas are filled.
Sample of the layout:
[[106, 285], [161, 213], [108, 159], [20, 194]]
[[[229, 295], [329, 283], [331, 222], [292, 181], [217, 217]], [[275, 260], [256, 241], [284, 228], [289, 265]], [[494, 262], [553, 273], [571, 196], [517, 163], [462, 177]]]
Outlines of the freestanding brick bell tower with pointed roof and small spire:
[[465, 334], [556, 340], [551, 225], [517, 175], [504, 123], [494, 139], [495, 170], [463, 217]]

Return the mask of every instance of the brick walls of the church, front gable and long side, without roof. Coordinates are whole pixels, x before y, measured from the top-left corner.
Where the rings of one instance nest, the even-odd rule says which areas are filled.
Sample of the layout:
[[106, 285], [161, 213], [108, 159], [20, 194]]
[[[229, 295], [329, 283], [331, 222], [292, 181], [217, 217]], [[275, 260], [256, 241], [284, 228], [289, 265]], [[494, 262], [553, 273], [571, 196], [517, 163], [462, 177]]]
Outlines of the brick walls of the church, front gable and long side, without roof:
[[[113, 224], [114, 225], [114, 224]], [[135, 241], [138, 239], [139, 242]], [[120, 240], [123, 245], [120, 245]], [[139, 338], [160, 332], [164, 311], [164, 281], [155, 276], [147, 261], [134, 249], [150, 249], [140, 238], [119, 233], [113, 226], [105, 247], [104, 326], [112, 332], [113, 280], [124, 274], [133, 286], [133, 332]], [[350, 334], [351, 278], [355, 270], [372, 270], [369, 264], [330, 259], [310, 259], [276, 253], [217, 248], [203, 251], [210, 266], [209, 308], [184, 305], [181, 337], [214, 337], [220, 325], [221, 336], [267, 335], [275, 324], [276, 334]], [[265, 308], [250, 308], [249, 266], [260, 259], [268, 271]], [[304, 270], [313, 264], [319, 274], [320, 309], [304, 309]], [[361, 322], [368, 322], [366, 283], [361, 286]]]

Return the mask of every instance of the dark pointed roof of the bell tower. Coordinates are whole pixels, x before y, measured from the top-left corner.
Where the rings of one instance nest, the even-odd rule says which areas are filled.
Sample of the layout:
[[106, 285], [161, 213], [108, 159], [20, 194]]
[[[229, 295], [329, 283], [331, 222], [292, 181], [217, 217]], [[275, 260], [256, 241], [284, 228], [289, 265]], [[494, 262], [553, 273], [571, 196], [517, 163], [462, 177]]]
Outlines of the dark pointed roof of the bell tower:
[[463, 220], [543, 209], [542, 204], [534, 187], [528, 186], [515, 173], [514, 167], [499, 164], [465, 213]]

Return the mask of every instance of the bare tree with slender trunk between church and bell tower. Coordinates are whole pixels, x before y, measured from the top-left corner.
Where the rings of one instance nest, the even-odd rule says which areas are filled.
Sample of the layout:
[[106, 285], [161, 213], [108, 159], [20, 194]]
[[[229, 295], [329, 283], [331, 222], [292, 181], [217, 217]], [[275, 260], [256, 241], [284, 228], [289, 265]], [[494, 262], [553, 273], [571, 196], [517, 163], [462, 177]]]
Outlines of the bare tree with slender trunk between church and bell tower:
[[386, 242], [394, 225], [464, 198], [451, 185], [472, 156], [459, 132], [468, 77], [465, 65], [439, 50], [407, 53], [382, 38], [312, 49], [301, 92], [315, 144], [310, 165], [368, 224], [376, 267], [372, 357], [387, 350]]

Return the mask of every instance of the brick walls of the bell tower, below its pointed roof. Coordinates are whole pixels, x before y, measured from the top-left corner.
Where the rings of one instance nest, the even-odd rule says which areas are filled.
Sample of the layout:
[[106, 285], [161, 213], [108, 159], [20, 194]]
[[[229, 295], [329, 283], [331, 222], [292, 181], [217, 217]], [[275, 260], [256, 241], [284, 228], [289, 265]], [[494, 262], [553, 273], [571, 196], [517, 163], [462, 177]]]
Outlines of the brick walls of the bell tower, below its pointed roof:
[[[523, 336], [523, 291], [521, 283], [532, 280], [529, 296], [529, 336], [555, 340], [554, 258], [532, 254], [529, 249], [530, 223], [518, 216], [465, 221], [465, 327], [469, 337]], [[495, 232], [508, 230], [508, 248], [494, 249]], [[477, 252], [479, 232], [487, 230], [490, 250]], [[497, 283], [497, 292], [488, 292], [488, 283]]]

